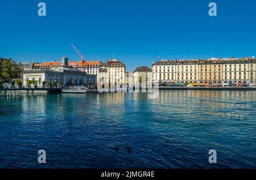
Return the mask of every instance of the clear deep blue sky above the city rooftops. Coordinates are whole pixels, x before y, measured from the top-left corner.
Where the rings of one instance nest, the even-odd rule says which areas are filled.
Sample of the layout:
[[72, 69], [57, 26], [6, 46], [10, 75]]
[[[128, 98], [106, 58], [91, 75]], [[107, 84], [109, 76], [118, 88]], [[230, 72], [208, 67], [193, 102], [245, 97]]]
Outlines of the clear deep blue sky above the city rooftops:
[[88, 60], [116, 58], [134, 70], [151, 59], [256, 55], [255, 8], [252, 0], [1, 1], [0, 57], [78, 61], [73, 43]]

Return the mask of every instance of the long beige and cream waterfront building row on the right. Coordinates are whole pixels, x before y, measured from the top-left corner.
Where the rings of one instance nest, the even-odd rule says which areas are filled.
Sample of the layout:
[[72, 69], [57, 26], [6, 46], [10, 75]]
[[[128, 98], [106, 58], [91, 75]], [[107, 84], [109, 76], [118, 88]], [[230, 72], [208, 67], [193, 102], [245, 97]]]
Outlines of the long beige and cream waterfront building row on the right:
[[209, 58], [162, 60], [152, 65], [153, 83], [162, 85], [247, 86], [256, 85], [256, 59]]

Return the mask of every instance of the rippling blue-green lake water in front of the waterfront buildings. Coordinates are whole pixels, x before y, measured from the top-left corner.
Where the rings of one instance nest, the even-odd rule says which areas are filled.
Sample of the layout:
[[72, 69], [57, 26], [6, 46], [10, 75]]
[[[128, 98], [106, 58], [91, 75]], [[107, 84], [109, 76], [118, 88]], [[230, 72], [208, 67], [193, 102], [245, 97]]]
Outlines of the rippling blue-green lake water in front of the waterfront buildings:
[[255, 112], [255, 91], [0, 97], [0, 168], [256, 168]]

